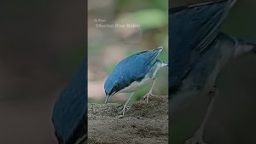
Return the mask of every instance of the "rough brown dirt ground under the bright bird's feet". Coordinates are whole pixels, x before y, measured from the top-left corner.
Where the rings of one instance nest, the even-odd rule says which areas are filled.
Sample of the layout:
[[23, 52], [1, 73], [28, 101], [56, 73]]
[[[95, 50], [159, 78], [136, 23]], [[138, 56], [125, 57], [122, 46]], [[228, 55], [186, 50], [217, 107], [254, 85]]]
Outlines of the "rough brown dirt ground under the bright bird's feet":
[[167, 144], [167, 96], [150, 96], [134, 103], [124, 118], [118, 118], [123, 105], [89, 104], [88, 143]]

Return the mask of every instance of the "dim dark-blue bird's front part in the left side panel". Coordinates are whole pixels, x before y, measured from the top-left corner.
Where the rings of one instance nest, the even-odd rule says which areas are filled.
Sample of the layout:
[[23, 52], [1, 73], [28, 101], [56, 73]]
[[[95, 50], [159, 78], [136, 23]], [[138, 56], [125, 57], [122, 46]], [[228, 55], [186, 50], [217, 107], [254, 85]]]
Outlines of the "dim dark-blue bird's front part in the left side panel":
[[52, 121], [59, 144], [82, 144], [87, 139], [87, 62], [61, 91]]

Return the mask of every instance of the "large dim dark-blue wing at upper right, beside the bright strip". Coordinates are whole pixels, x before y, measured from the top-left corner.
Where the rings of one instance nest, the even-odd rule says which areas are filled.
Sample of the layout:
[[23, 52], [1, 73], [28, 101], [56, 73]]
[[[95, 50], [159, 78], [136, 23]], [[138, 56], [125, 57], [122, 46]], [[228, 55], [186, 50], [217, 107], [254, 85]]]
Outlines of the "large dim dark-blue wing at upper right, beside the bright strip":
[[169, 9], [169, 87], [175, 89], [218, 34], [234, 0]]

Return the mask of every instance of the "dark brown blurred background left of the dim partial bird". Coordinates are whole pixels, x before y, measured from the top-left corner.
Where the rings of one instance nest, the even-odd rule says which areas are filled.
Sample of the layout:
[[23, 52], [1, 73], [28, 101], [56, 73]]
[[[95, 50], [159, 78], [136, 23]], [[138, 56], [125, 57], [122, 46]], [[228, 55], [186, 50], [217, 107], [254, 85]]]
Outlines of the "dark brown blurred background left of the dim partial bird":
[[86, 56], [86, 2], [0, 3], [0, 143], [57, 143], [56, 99]]

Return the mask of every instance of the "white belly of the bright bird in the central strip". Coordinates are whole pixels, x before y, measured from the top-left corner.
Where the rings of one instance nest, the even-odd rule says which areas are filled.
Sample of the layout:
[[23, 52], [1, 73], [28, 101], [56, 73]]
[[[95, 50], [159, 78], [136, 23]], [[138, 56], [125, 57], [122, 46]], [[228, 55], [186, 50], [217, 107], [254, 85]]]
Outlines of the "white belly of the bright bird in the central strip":
[[121, 89], [118, 93], [131, 93], [137, 91], [137, 89], [141, 89], [143, 86], [148, 84], [150, 80], [152, 80], [152, 78], [144, 78], [140, 82], [132, 82], [128, 87], [126, 87], [125, 89]]

